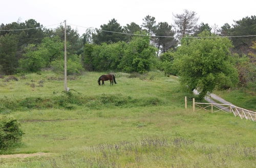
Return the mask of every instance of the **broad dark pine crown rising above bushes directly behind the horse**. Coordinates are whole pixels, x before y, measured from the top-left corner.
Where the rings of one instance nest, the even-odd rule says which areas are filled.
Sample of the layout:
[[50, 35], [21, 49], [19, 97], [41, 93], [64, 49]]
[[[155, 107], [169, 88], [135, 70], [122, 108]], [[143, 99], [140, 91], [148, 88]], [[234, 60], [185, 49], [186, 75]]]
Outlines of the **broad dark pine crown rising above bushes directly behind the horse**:
[[117, 20], [114, 18], [109, 21], [108, 24], [100, 25], [101, 30], [97, 30], [97, 34], [93, 34], [93, 42], [96, 44], [101, 43], [116, 43], [118, 41], [124, 41], [125, 35], [118, 34], [118, 33], [112, 33], [112, 32], [119, 32], [123, 33], [123, 28], [120, 26], [120, 24], [117, 22]]

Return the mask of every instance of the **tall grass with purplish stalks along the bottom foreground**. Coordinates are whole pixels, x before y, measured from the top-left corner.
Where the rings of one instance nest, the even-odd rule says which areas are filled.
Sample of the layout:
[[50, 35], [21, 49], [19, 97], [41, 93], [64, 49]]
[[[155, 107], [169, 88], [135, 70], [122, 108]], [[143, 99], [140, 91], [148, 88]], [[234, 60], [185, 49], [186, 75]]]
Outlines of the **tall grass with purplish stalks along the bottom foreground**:
[[239, 143], [201, 145], [176, 138], [145, 138], [99, 144], [43, 160], [24, 160], [23, 167], [254, 167], [256, 150]]

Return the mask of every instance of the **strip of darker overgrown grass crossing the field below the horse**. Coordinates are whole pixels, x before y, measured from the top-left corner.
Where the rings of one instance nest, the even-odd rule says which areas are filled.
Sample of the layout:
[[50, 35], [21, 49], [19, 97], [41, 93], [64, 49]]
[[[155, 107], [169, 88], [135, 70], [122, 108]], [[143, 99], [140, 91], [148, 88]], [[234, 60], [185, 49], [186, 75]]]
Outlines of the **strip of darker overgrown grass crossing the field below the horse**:
[[26, 97], [24, 99], [0, 98], [0, 113], [9, 113], [16, 110], [65, 108], [75, 109], [76, 106], [85, 106], [90, 109], [101, 109], [114, 106], [148, 106], [159, 105], [163, 102], [157, 97], [132, 98], [122, 94], [100, 94], [84, 96], [75, 92], [62, 92], [52, 97]]

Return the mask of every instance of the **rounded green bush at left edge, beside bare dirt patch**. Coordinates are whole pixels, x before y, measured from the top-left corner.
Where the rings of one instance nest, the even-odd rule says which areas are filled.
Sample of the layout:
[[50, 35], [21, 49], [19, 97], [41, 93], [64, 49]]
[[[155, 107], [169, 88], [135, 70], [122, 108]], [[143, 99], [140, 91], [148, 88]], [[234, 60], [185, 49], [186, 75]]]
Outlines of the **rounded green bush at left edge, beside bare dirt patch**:
[[20, 143], [24, 132], [19, 128], [17, 120], [12, 118], [0, 119], [0, 150], [6, 150]]

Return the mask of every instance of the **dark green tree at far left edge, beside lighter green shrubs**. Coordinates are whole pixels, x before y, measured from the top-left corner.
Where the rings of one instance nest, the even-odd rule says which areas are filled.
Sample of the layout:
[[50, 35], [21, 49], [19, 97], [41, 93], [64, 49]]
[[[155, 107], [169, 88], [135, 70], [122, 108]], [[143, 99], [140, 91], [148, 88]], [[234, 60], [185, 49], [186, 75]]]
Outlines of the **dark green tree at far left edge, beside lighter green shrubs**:
[[9, 75], [16, 71], [18, 65], [16, 58], [17, 43], [16, 35], [0, 36], [0, 72]]

